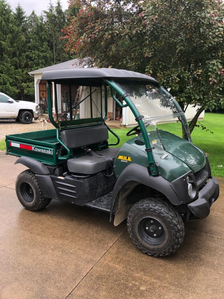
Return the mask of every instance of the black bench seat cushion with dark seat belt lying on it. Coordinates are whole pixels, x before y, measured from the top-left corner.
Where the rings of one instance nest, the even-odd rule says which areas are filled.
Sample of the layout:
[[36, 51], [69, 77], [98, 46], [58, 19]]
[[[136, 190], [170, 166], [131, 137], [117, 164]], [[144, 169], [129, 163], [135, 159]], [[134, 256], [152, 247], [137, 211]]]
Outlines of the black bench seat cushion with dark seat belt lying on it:
[[[107, 157], [116, 158], [119, 152], [119, 148], [108, 148], [100, 151], [99, 153]], [[95, 174], [107, 169], [106, 159], [100, 157], [93, 157], [90, 155], [85, 155], [79, 158], [72, 158], [67, 161], [68, 170], [72, 173], [81, 174]]]

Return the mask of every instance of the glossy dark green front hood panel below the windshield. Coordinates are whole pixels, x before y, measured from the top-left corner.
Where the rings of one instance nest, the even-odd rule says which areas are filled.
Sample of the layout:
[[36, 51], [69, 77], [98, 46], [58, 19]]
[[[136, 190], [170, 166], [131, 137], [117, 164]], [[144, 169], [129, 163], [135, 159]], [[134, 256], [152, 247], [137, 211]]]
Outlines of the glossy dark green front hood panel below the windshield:
[[179, 158], [195, 173], [205, 166], [205, 153], [189, 141], [159, 130], [166, 152]]

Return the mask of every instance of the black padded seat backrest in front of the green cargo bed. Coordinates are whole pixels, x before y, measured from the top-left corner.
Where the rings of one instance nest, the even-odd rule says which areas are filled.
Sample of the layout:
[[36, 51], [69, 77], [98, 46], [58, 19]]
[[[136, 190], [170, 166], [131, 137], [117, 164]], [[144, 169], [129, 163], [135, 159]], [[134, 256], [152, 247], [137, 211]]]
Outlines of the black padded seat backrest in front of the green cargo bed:
[[67, 129], [62, 131], [61, 138], [70, 149], [99, 143], [108, 139], [108, 129], [105, 125]]

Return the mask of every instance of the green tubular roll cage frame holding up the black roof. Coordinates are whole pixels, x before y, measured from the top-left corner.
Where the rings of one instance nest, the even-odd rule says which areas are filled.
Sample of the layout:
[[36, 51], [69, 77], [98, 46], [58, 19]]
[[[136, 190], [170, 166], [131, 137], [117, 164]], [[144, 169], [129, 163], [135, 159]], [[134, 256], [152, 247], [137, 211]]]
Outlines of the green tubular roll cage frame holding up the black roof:
[[[48, 111], [52, 111], [53, 109], [53, 106], [52, 106], [52, 97], [51, 97], [51, 83], [54, 82], [54, 96], [55, 96], [55, 113], [56, 113], [56, 119], [58, 118], [58, 107], [57, 107], [57, 91], [56, 91], [56, 84], [59, 83], [60, 84], [60, 81], [52, 81], [52, 80], [49, 80], [47, 81], [47, 105], [48, 105]], [[68, 80], [67, 83], [69, 85], [69, 109], [70, 109], [70, 115], [72, 115], [72, 106], [71, 106], [71, 85], [69, 83], [70, 81]], [[84, 126], [96, 126], [96, 125], [100, 125], [102, 123], [105, 123], [105, 119], [107, 117], [107, 86], [106, 86], [106, 83], [108, 84], [109, 88], [110, 88], [110, 92], [111, 92], [111, 96], [113, 98], [113, 100], [116, 101], [116, 103], [124, 108], [124, 107], [129, 107], [131, 109], [131, 112], [133, 113], [134, 117], [137, 119], [137, 122], [138, 122], [138, 125], [139, 125], [139, 128], [142, 132], [142, 136], [144, 138], [144, 141], [145, 141], [145, 147], [146, 147], [146, 153], [147, 153], [147, 156], [148, 156], [148, 162], [149, 162], [149, 165], [150, 165], [150, 170], [151, 170], [151, 175], [152, 176], [157, 176], [158, 173], [157, 173], [157, 167], [156, 167], [156, 163], [155, 163], [155, 160], [154, 160], [154, 156], [153, 156], [153, 152], [152, 152], [152, 147], [151, 147], [151, 144], [149, 142], [149, 138], [148, 138], [148, 132], [145, 128], [145, 125], [144, 125], [144, 122], [143, 120], [141, 119], [141, 115], [139, 114], [139, 111], [137, 110], [136, 106], [134, 105], [134, 103], [132, 102], [132, 100], [128, 97], [128, 95], [126, 95], [124, 93], [124, 91], [122, 91], [119, 86], [116, 85], [116, 83], [114, 83], [112, 80], [106, 80], [104, 79], [104, 82], [103, 82], [103, 86], [104, 86], [104, 110], [105, 110], [105, 113], [104, 113], [104, 116], [102, 116], [102, 118], [89, 118], [89, 119], [83, 119], [83, 120], [65, 120], [65, 121], [60, 121], [57, 122], [54, 120], [53, 118], [53, 115], [52, 113], [48, 113], [49, 114], [49, 119], [50, 119], [50, 122], [53, 124], [53, 126], [55, 126], [56, 130], [57, 130], [57, 140], [58, 142], [66, 149], [67, 151], [67, 155], [66, 156], [61, 156], [61, 155], [58, 155], [58, 159], [61, 160], [61, 161], [65, 161], [67, 159], [70, 158], [70, 155], [71, 155], [71, 151], [70, 149], [62, 142], [61, 140], [61, 131], [63, 129], [69, 129], [69, 128], [74, 128], [74, 126], [76, 127], [84, 127]], [[101, 87], [102, 88], [102, 87]], [[125, 101], [126, 104], [122, 104], [114, 95], [113, 93], [113, 90], [116, 91], [117, 94], [119, 94], [119, 96]], [[101, 93], [102, 94], [102, 93]], [[90, 93], [90, 103], [91, 103], [91, 93]], [[102, 101], [101, 101], [102, 103]], [[91, 108], [91, 106], [90, 106]], [[102, 111], [102, 109], [101, 109]], [[91, 113], [92, 115], [92, 113]], [[93, 120], [95, 121], [93, 123]], [[106, 125], [107, 126], [107, 125]], [[113, 145], [117, 145], [119, 144], [119, 136], [117, 136], [108, 126], [107, 126], [108, 130], [117, 138], [117, 142], [114, 143], [114, 144], [108, 144], [109, 146], [113, 146]]]

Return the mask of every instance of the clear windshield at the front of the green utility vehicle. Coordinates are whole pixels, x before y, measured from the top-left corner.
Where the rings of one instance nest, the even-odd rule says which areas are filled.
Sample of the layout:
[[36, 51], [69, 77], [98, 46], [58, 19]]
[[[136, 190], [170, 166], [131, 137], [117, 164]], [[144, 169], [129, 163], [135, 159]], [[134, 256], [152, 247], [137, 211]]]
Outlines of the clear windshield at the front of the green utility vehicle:
[[157, 164], [165, 155], [158, 123], [180, 121], [183, 125], [186, 139], [191, 141], [191, 135], [184, 112], [174, 97], [159, 84], [138, 80], [116, 80], [116, 84], [130, 97], [140, 115], [143, 115], [145, 127]]

